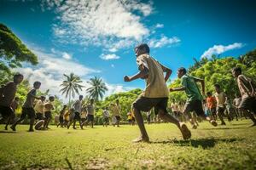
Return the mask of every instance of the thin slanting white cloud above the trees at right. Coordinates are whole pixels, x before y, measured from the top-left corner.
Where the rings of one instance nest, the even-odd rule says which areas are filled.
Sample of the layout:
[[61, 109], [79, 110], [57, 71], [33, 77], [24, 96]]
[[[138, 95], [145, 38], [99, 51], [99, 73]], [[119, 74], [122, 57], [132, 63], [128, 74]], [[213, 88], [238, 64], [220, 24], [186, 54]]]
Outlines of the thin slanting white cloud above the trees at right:
[[201, 55], [202, 58], [208, 58], [210, 59], [212, 57], [212, 54], [223, 54], [226, 51], [230, 51], [232, 49], [242, 48], [244, 44], [241, 42], [235, 42], [230, 45], [224, 46], [224, 45], [214, 45], [212, 48], [208, 48], [207, 51], [204, 52], [204, 54]]

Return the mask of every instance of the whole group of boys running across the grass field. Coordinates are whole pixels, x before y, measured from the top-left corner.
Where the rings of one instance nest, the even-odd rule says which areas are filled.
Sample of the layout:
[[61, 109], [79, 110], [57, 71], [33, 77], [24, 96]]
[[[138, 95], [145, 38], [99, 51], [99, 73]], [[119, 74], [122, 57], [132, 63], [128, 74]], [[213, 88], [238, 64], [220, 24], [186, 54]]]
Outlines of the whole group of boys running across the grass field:
[[[216, 122], [217, 116], [219, 117], [221, 124], [225, 124], [223, 116], [225, 111], [224, 104], [227, 98], [218, 84], [214, 85], [216, 91], [214, 97], [212, 97], [211, 93], [207, 93], [206, 105], [208, 106], [208, 110], [212, 112], [212, 115], [208, 115], [203, 108], [203, 96], [206, 95], [204, 80], [198, 77], [189, 76], [186, 69], [181, 67], [177, 70], [177, 77], [181, 79], [181, 87], [168, 89], [166, 82], [171, 76], [172, 70], [164, 65], [161, 65], [160, 62], [151, 57], [149, 51], [148, 45], [145, 43], [140, 44], [135, 48], [139, 71], [134, 76], [124, 77], [125, 82], [131, 82], [138, 78], [144, 79], [146, 82], [146, 88], [144, 89], [143, 94], [139, 95], [136, 101], [131, 105], [131, 115], [134, 115], [141, 132], [141, 135], [135, 139], [134, 142], [149, 141], [141, 111], [148, 112], [153, 108], [154, 114], [160, 119], [165, 122], [172, 122], [177, 126], [183, 135], [183, 139], [191, 138], [191, 132], [186, 124], [167, 112], [169, 93], [175, 91], [185, 91], [187, 95], [187, 101], [183, 106], [182, 114], [189, 116], [189, 122], [193, 128], [196, 128], [198, 123], [196, 122], [196, 119], [189, 114], [191, 112], [195, 112], [197, 117], [200, 117], [201, 120], [210, 122], [214, 127], [218, 126], [218, 123]], [[236, 105], [236, 107], [239, 109], [239, 111], [245, 111], [247, 116], [253, 121], [253, 126], [255, 126], [256, 120], [253, 114], [256, 113], [256, 95], [252, 79], [244, 76], [240, 67], [233, 68], [232, 74], [234, 77], [236, 77], [236, 82], [241, 93], [240, 104]], [[15, 94], [17, 91], [17, 86], [20, 84], [20, 82], [22, 82], [22, 80], [23, 76], [21, 74], [15, 74], [14, 81], [8, 82], [3, 88], [0, 89], [0, 113], [3, 117], [1, 122], [10, 122], [10, 120], [14, 117], [14, 111], [18, 100], [18, 98], [15, 98]], [[198, 87], [197, 82], [201, 83], [201, 90]], [[29, 131], [33, 131], [33, 126], [36, 119], [44, 121], [44, 123], [42, 123], [42, 127], [38, 129], [49, 128], [48, 125], [52, 118], [51, 111], [54, 109], [53, 101], [55, 98], [53, 96], [49, 96], [49, 99], [44, 102], [44, 96], [37, 96], [37, 91], [40, 86], [41, 82], [33, 83], [33, 88], [28, 92], [26, 101], [22, 106], [20, 118], [16, 120], [10, 127], [12, 130], [15, 131], [16, 125], [22, 122], [26, 116], [28, 116], [30, 119]], [[36, 105], [34, 105], [35, 99], [38, 99]], [[90, 99], [90, 104], [88, 105], [82, 105], [82, 100], [83, 96], [80, 95], [79, 99], [74, 102], [70, 109], [67, 109], [67, 105], [64, 105], [59, 116], [59, 125], [61, 127], [69, 128], [73, 124], [73, 128], [75, 128], [77, 121], [79, 122], [81, 128], [88, 123], [90, 123], [90, 126], [93, 127], [95, 114], [94, 100]], [[214, 111], [214, 108], [211, 107], [211, 105], [214, 105], [215, 100], [217, 105], [216, 112]], [[116, 100], [116, 103], [109, 105], [109, 107], [112, 108], [111, 110], [116, 118], [116, 125], [119, 127], [119, 100]], [[109, 117], [108, 107], [104, 109], [103, 115], [105, 120], [104, 124], [106, 123], [105, 125], [107, 126]], [[131, 117], [131, 115], [128, 116]], [[69, 119], [67, 119], [67, 117], [69, 117]]]

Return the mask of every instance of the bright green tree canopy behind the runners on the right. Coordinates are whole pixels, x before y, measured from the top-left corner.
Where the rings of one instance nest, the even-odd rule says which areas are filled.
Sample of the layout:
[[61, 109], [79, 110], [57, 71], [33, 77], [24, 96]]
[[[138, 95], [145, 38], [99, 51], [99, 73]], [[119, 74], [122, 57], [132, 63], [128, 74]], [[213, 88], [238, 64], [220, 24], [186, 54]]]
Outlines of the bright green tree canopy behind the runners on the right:
[[[189, 67], [189, 75], [204, 78], [206, 82], [206, 91], [214, 92], [213, 85], [218, 83], [224, 92], [234, 98], [235, 94], [240, 94], [236, 85], [236, 80], [232, 77], [231, 69], [240, 66], [243, 74], [253, 78], [256, 81], [256, 49], [241, 55], [238, 59], [234, 57], [226, 57], [218, 59], [213, 56], [212, 59], [195, 60], [195, 65]], [[177, 79], [171, 83], [170, 87], [176, 88], [180, 86], [180, 80]], [[186, 99], [184, 93], [172, 93], [171, 99], [184, 101]]]

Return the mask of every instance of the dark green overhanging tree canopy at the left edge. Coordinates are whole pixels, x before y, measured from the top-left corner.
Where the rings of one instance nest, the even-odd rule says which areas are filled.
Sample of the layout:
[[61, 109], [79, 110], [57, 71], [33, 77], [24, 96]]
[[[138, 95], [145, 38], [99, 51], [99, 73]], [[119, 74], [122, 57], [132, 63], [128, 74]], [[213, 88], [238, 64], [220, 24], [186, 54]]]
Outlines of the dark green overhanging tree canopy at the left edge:
[[38, 57], [7, 26], [0, 23], [0, 83], [6, 82], [11, 69], [21, 67], [22, 62], [37, 65]]

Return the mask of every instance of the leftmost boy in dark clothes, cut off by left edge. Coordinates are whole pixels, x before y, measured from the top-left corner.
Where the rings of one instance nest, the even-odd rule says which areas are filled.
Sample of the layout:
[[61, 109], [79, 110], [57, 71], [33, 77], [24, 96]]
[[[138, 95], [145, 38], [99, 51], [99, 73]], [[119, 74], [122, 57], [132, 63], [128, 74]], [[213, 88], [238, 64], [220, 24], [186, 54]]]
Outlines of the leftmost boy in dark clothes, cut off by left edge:
[[0, 88], [0, 114], [2, 119], [0, 123], [6, 123], [9, 118], [14, 116], [14, 110], [11, 105], [15, 99], [17, 86], [23, 81], [23, 75], [20, 73], [15, 74], [13, 82], [7, 82], [3, 88]]

